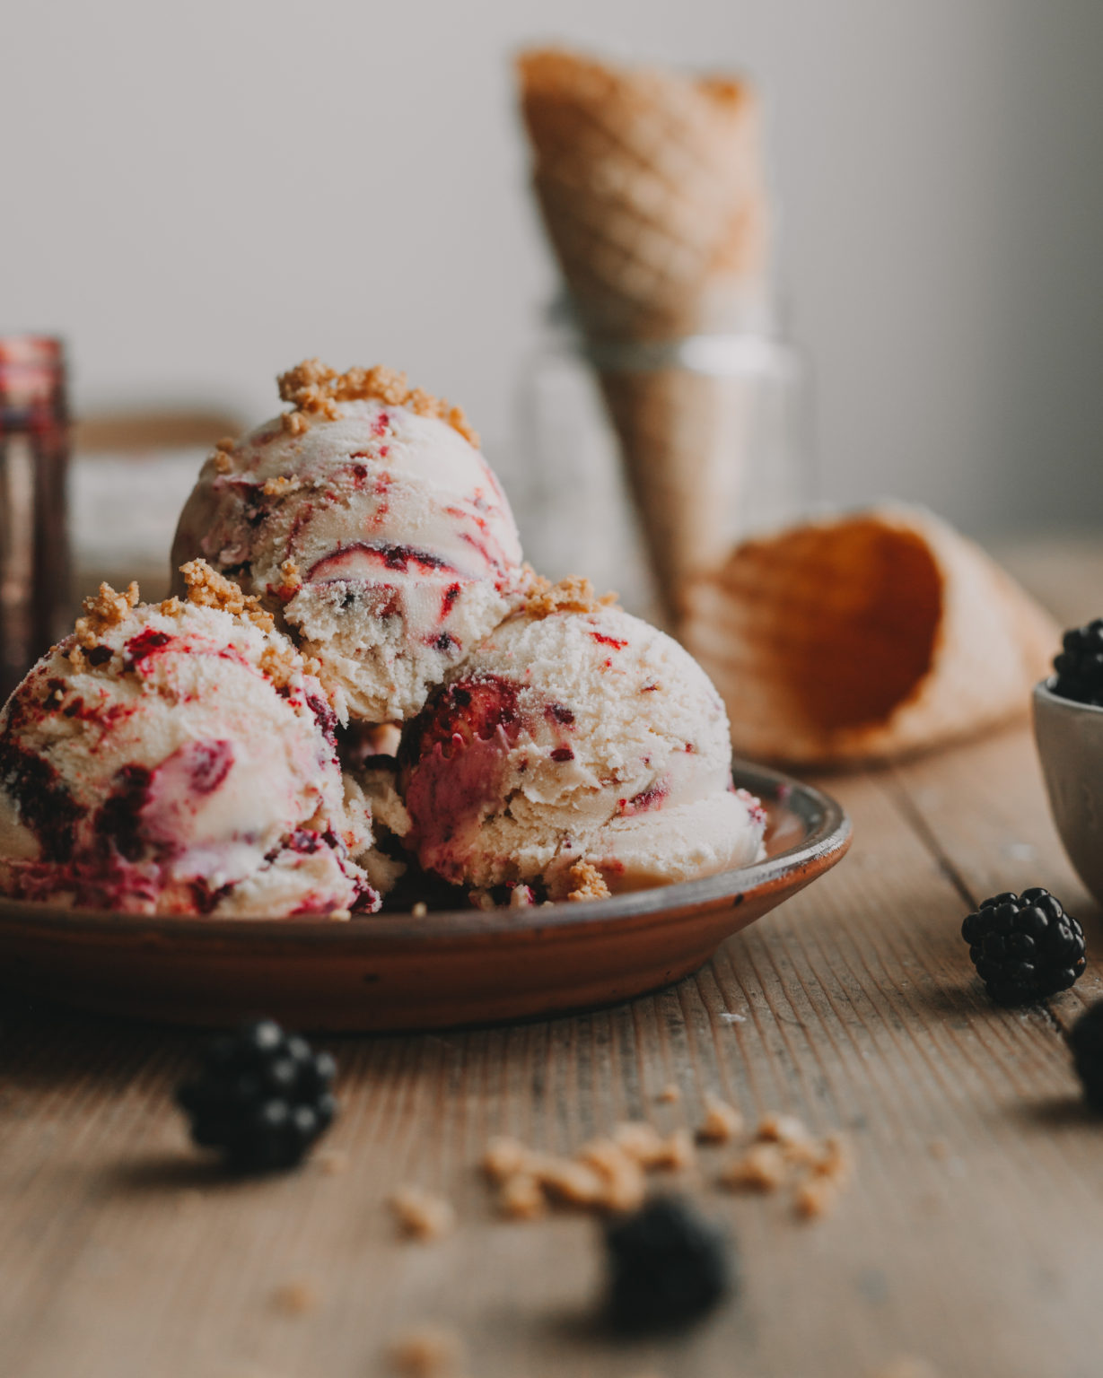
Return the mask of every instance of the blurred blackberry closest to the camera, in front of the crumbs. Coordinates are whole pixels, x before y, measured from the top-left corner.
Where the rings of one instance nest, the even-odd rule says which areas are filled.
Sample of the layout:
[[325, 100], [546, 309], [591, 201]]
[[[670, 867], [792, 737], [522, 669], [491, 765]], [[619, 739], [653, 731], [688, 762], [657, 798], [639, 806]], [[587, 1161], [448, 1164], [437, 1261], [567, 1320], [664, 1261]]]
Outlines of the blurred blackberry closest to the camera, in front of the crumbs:
[[605, 1248], [608, 1319], [625, 1333], [687, 1326], [731, 1288], [722, 1235], [673, 1197], [612, 1221]]

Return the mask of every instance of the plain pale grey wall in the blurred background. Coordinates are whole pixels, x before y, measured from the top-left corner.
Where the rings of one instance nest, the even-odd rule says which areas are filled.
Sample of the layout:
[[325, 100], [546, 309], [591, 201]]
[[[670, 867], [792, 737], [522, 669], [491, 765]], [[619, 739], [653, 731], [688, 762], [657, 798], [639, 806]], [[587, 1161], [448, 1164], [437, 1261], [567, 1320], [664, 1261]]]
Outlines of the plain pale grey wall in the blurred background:
[[386, 361], [507, 455], [538, 40], [758, 80], [826, 496], [1103, 518], [1100, 0], [10, 4], [0, 328], [63, 333], [85, 411]]

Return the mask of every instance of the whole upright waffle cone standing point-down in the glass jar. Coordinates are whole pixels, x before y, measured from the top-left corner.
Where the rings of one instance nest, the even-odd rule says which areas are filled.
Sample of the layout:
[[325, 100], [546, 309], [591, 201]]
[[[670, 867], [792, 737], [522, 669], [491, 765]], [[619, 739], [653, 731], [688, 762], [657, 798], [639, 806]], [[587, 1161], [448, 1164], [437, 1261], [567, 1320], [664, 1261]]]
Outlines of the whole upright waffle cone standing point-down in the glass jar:
[[[517, 66], [536, 200], [589, 339], [669, 342], [729, 322], [767, 271], [750, 88], [558, 50]], [[681, 580], [720, 555], [732, 521], [732, 393], [727, 379], [676, 367], [597, 368], [673, 612]]]

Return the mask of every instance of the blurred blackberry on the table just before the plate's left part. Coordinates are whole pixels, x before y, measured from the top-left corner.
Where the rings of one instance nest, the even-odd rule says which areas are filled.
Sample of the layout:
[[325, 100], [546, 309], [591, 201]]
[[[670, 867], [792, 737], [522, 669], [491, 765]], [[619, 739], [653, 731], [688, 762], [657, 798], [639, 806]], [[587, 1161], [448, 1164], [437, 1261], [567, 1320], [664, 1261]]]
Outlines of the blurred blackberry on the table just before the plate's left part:
[[273, 1020], [214, 1039], [200, 1075], [176, 1089], [200, 1148], [237, 1173], [294, 1167], [336, 1113], [334, 1060]]

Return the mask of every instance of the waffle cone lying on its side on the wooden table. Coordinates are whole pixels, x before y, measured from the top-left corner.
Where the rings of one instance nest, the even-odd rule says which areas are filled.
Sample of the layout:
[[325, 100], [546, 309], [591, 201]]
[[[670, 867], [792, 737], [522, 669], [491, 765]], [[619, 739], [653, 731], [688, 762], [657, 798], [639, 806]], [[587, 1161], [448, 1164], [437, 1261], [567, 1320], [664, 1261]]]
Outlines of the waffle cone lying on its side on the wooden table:
[[856, 763], [1024, 714], [1060, 631], [978, 546], [902, 507], [736, 547], [687, 587], [681, 638], [738, 752]]

